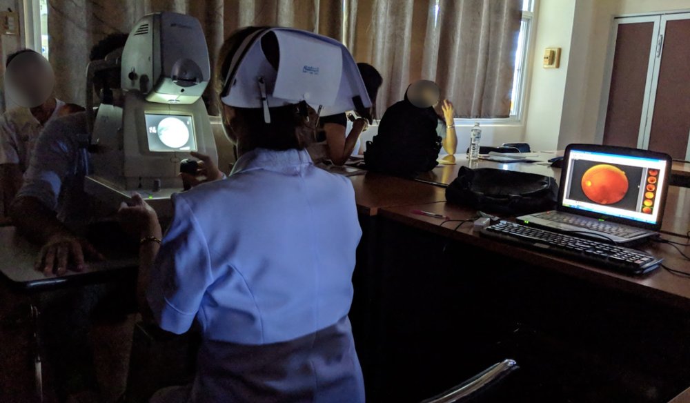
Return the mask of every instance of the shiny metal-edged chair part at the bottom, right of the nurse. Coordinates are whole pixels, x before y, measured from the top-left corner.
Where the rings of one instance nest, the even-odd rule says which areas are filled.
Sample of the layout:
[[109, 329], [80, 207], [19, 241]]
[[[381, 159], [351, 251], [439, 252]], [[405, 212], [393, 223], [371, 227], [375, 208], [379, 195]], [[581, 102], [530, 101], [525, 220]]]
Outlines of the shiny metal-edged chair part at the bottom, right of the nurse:
[[451, 389], [444, 391], [440, 395], [422, 401], [422, 403], [462, 403], [474, 399], [480, 393], [487, 391], [492, 386], [499, 384], [506, 376], [515, 371], [517, 362], [513, 360], [503, 360], [493, 364], [484, 371], [471, 377]]

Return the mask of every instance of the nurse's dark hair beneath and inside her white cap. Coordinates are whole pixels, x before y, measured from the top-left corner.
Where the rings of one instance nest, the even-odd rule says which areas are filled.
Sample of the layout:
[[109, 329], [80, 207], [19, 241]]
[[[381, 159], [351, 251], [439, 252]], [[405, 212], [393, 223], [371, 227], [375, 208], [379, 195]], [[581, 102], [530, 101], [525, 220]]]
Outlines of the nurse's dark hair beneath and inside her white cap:
[[[267, 27], [247, 27], [241, 28], [228, 37], [220, 48], [215, 68], [215, 90], [218, 106], [223, 115], [223, 101], [221, 101], [223, 84], [229, 74], [230, 62], [232, 61], [239, 46], [244, 39], [257, 30]], [[261, 39], [262, 50], [268, 62], [277, 70], [279, 63], [278, 41], [273, 32], [268, 32]], [[300, 114], [297, 104], [286, 106], [275, 106], [270, 109], [270, 123], [264, 121], [264, 110], [262, 108], [238, 108], [235, 110], [235, 117], [232, 125], [228, 119], [223, 117], [223, 126], [226, 133], [233, 132], [237, 137], [242, 137], [242, 141], [249, 145], [249, 148], [266, 148], [268, 150], [290, 150], [295, 148], [302, 150], [313, 140], [315, 128], [313, 123], [317, 120], [316, 112], [309, 109], [309, 119], [305, 119]], [[311, 122], [308, 123], [308, 122]]]

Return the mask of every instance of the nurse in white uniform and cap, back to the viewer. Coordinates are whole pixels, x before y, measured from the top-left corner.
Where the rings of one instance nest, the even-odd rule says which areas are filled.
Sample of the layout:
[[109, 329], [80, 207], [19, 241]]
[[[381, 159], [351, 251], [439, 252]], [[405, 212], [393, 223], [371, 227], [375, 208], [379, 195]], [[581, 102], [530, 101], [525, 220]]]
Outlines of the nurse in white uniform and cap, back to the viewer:
[[[139, 222], [139, 285], [152, 317], [174, 333], [195, 321], [203, 331], [193, 384], [159, 391], [152, 401], [364, 402], [347, 316], [362, 235], [355, 195], [346, 177], [313, 165], [304, 139], [313, 135], [319, 105], [337, 104], [345, 93], [350, 104], [329, 112], [352, 108], [352, 83], [359, 101], [368, 97], [351, 71], [335, 83], [337, 97], [305, 95], [324, 102], [315, 108], [289, 91], [277, 97], [277, 70], [305, 46], [335, 48], [338, 69], [355, 66], [341, 44], [308, 32], [246, 28], [232, 35], [217, 68], [226, 133], [240, 155], [232, 173], [177, 195], [165, 236], [141, 197], [121, 208], [121, 219]], [[333, 60], [328, 56], [317, 59]], [[328, 75], [327, 67], [299, 59], [306, 79]], [[248, 82], [249, 74], [262, 74], [260, 82]]]

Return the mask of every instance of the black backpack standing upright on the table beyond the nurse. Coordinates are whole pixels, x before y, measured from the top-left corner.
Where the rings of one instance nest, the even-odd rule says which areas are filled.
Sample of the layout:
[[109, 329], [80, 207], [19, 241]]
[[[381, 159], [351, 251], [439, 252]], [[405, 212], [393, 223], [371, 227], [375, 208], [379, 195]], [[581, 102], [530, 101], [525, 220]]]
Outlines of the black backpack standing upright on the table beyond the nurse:
[[382, 117], [378, 134], [366, 142], [364, 162], [368, 170], [414, 177], [437, 166], [442, 139], [437, 135], [438, 117], [433, 108], [417, 108], [400, 101]]

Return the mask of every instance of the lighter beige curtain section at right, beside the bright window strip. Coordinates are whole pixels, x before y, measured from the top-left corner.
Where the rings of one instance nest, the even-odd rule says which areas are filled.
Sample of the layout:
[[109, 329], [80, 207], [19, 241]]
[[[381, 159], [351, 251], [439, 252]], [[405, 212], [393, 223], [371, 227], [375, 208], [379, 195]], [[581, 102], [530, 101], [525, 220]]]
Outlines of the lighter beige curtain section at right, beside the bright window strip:
[[412, 81], [430, 79], [459, 117], [509, 117], [522, 0], [360, 0], [358, 7], [351, 50], [384, 77], [378, 110], [400, 101]]

